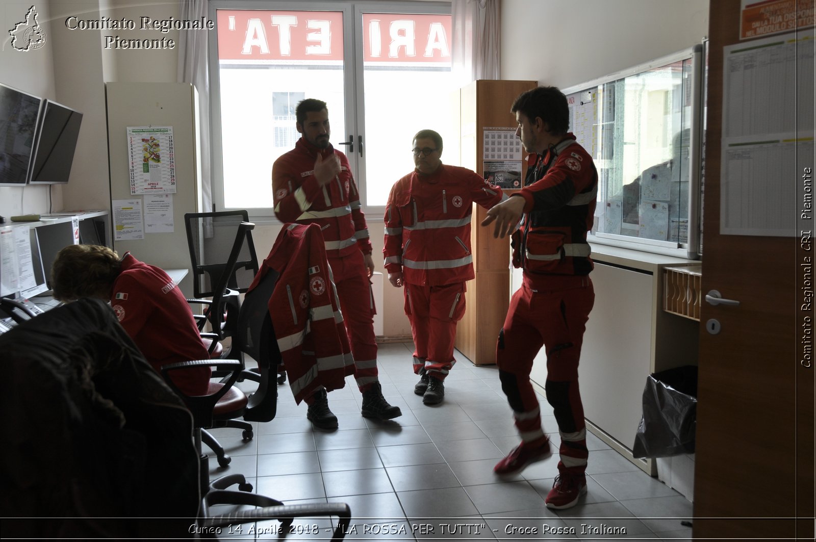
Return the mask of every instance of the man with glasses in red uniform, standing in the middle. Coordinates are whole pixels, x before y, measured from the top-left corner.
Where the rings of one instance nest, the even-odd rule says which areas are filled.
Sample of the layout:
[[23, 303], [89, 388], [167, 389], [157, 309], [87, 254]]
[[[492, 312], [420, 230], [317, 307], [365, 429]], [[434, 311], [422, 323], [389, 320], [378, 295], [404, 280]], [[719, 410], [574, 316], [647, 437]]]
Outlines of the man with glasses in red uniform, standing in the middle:
[[442, 138], [414, 136], [415, 170], [393, 185], [385, 207], [388, 281], [405, 287], [405, 311], [414, 335], [414, 393], [435, 405], [445, 397], [454, 366], [456, 322], [464, 313], [465, 282], [473, 275], [470, 219], [473, 202], [490, 209], [507, 199], [502, 189], [464, 167], [442, 164]]

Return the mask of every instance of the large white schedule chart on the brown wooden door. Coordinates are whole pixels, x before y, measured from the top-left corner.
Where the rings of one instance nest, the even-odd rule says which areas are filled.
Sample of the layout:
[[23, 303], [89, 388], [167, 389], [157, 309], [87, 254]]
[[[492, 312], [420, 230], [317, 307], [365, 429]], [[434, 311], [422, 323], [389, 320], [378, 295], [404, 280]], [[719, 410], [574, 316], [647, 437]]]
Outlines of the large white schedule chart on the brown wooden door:
[[723, 54], [720, 233], [796, 235], [798, 180], [814, 156], [814, 33]]

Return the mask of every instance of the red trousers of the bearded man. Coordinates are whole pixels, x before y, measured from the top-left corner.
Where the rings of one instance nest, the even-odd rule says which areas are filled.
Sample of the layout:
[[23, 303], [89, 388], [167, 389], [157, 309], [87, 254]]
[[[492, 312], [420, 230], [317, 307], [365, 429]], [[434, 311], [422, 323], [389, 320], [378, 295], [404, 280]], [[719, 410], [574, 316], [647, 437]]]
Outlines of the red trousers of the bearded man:
[[374, 335], [374, 296], [362, 252], [329, 258], [340, 311], [354, 358], [354, 380], [361, 392], [377, 382], [377, 341]]

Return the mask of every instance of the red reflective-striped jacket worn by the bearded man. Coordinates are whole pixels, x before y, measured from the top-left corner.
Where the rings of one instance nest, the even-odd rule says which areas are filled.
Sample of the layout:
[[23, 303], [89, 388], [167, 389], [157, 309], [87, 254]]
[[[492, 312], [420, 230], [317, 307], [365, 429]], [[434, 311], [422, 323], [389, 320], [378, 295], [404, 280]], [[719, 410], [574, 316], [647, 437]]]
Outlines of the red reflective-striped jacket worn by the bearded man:
[[[335, 153], [341, 171], [325, 186], [317, 184], [314, 162], [317, 153]], [[359, 250], [371, 253], [366, 217], [361, 211], [360, 194], [348, 158], [329, 146], [318, 149], [304, 138], [295, 149], [277, 158], [272, 179], [275, 215], [282, 222], [318, 224], [326, 243], [326, 254], [339, 258]]]

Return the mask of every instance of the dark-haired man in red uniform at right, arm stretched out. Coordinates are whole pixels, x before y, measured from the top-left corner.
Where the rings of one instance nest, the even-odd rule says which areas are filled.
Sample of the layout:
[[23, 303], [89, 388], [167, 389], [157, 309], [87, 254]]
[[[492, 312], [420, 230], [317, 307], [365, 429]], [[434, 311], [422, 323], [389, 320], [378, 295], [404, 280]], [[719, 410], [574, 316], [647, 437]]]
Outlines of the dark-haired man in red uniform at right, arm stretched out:
[[[555, 87], [518, 96], [516, 135], [530, 153], [525, 186], [490, 209], [482, 225], [494, 237], [512, 233], [513, 264], [524, 270], [510, 301], [496, 347], [502, 390], [508, 396], [521, 444], [494, 467], [498, 474], [521, 472], [550, 453], [530, 370], [539, 349], [547, 349], [547, 401], [561, 435], [558, 477], [545, 499], [553, 509], [570, 508], [587, 491], [587, 429], [578, 386], [583, 331], [595, 292], [587, 232], [592, 227], [597, 172], [592, 157], [568, 133], [569, 109]], [[521, 229], [513, 232], [522, 215]]]

